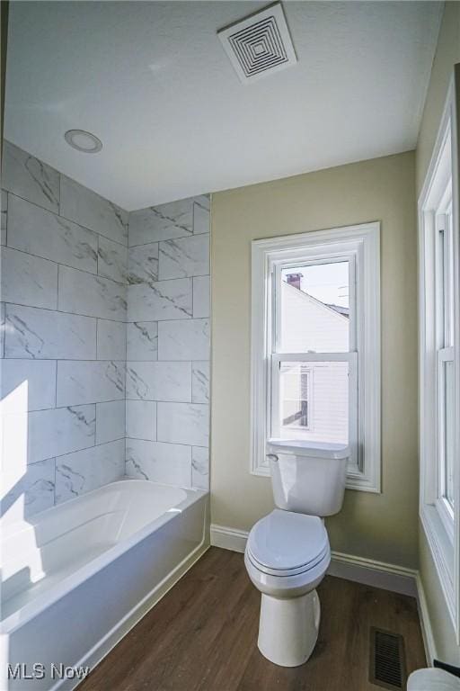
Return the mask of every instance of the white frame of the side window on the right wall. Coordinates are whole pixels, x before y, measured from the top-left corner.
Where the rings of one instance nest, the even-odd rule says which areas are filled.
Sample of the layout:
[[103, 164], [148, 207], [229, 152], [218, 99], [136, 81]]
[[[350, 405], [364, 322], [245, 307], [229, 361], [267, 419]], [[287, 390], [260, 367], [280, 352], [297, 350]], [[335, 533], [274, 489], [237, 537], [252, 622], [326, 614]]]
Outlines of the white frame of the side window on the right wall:
[[[459, 70], [460, 78], [460, 70]], [[460, 425], [454, 433], [454, 510], [440, 498], [441, 462], [444, 461], [440, 433], [443, 406], [440, 405], [440, 368], [443, 363], [454, 366], [454, 420], [460, 419], [460, 238], [459, 238], [459, 167], [456, 85], [452, 78], [447, 102], [438, 131], [438, 138], [429, 163], [428, 173], [420, 193], [419, 215], [419, 435], [420, 435], [420, 521], [435, 563], [447, 609], [460, 642]], [[450, 137], [450, 164], [444, 152]], [[446, 163], [447, 161], [447, 163]], [[440, 276], [438, 217], [446, 206], [445, 191], [452, 178], [452, 228], [454, 285], [454, 325], [437, 319], [440, 305], [438, 284]], [[447, 206], [448, 206], [447, 201]], [[444, 247], [444, 243], [443, 243]], [[441, 323], [440, 323], [441, 322]], [[454, 342], [447, 334], [453, 333]], [[439, 451], [440, 450], [440, 451]], [[441, 457], [440, 457], [441, 456]]]

